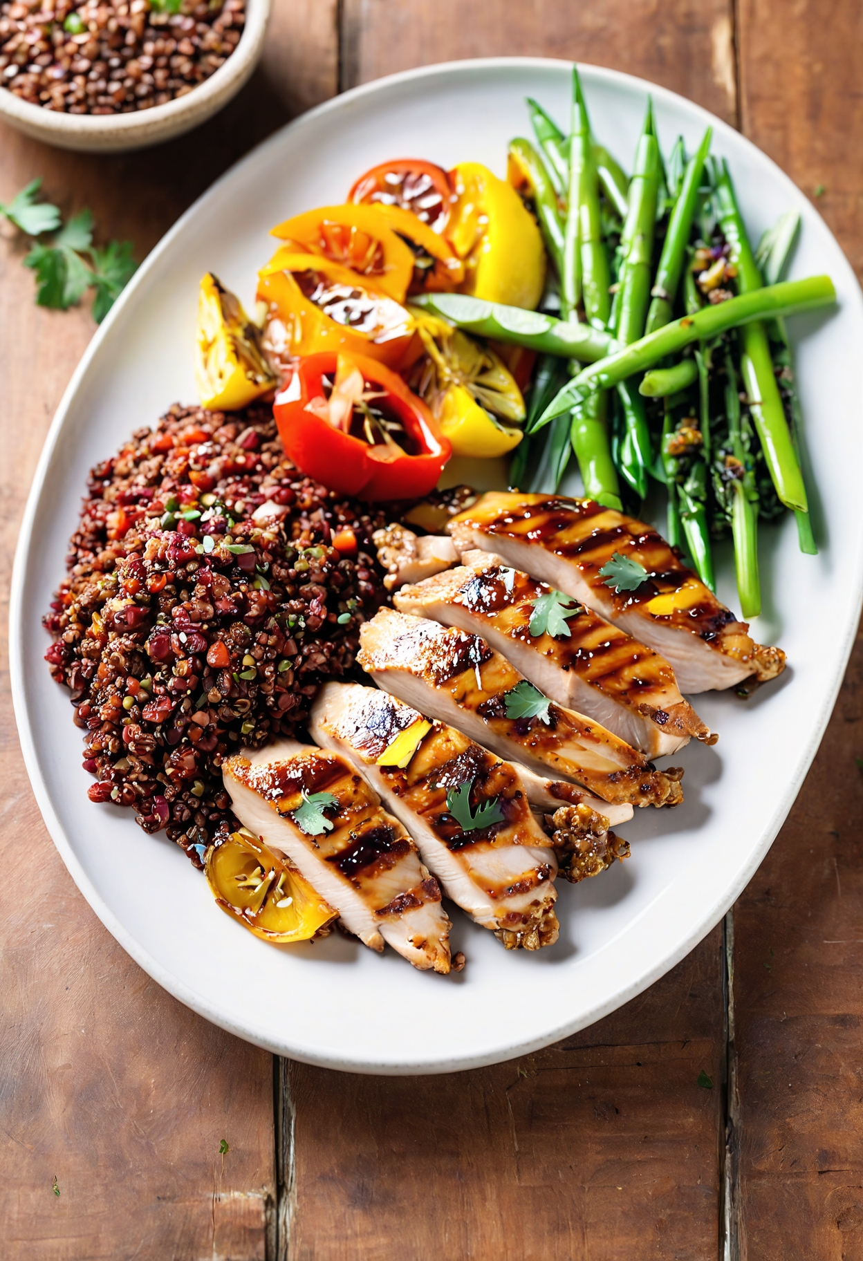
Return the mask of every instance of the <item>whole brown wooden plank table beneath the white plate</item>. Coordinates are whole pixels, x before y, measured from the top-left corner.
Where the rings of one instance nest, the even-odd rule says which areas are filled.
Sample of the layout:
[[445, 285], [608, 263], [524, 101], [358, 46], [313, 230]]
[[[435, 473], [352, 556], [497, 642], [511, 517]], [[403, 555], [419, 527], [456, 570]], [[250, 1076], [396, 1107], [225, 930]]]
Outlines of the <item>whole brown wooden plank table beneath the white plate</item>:
[[[641, 74], [737, 124], [806, 193], [823, 187], [859, 271], [862, 39], [858, 0], [275, 0], [261, 68], [206, 127], [119, 158], [4, 129], [0, 199], [42, 175], [140, 259], [339, 88], [531, 53]], [[0, 304], [5, 600], [25, 489], [93, 324], [33, 304], [15, 242], [0, 242]], [[50, 844], [4, 673], [3, 1257], [863, 1257], [862, 671], [858, 644], [791, 817], [689, 958], [545, 1052], [395, 1079], [274, 1063], [139, 971]]]

